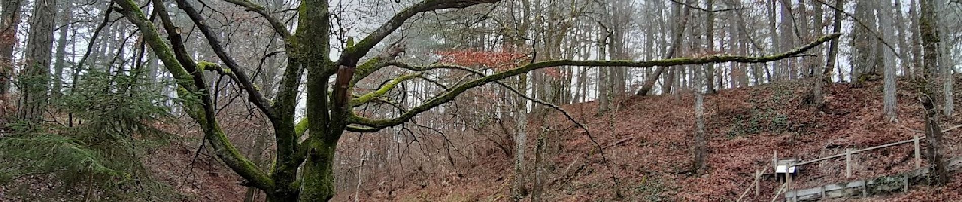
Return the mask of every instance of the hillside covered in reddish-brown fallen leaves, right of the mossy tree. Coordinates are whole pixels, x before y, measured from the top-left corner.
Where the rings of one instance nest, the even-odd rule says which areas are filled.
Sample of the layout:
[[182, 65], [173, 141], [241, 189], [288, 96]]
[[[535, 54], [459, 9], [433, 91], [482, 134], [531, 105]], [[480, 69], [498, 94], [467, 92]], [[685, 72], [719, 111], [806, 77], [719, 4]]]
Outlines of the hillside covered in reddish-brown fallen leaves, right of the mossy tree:
[[[899, 86], [909, 83], [902, 81]], [[756, 169], [771, 167], [774, 151], [782, 158], [810, 160], [846, 148], [880, 146], [922, 135], [922, 107], [911, 88], [903, 87], [898, 93], [899, 123], [881, 119], [881, 88], [880, 82], [862, 87], [831, 84], [824, 110], [806, 104], [808, 88], [800, 82], [726, 89], [708, 96], [709, 170], [702, 174], [690, 171], [695, 128], [690, 92], [628, 98], [600, 116], [595, 115], [593, 101], [563, 106], [589, 128], [591, 137], [557, 112], [547, 113], [544, 119], [531, 116], [528, 128], [532, 136], [544, 133], [545, 201], [734, 201], [751, 185]], [[956, 96], [955, 101], [959, 100]], [[959, 120], [949, 120], [943, 128], [956, 124]], [[959, 134], [959, 130], [945, 134], [947, 156], [962, 155]], [[533, 139], [537, 138], [529, 138], [529, 155]], [[857, 154], [848, 179], [844, 158], [807, 165], [793, 187], [813, 188], [906, 171], [914, 168], [912, 150], [909, 144]], [[362, 200], [503, 201], [510, 195], [511, 162], [474, 162], [451, 174], [430, 176], [419, 186], [366, 186]], [[859, 200], [962, 200], [958, 192], [962, 176], [956, 173], [953, 178], [947, 187], [917, 187], [908, 193]], [[372, 183], [384, 185], [390, 180]], [[751, 191], [746, 201], [772, 200], [776, 186], [774, 179], [763, 179], [761, 194]], [[353, 191], [342, 192], [335, 200], [353, 200], [351, 195]]]

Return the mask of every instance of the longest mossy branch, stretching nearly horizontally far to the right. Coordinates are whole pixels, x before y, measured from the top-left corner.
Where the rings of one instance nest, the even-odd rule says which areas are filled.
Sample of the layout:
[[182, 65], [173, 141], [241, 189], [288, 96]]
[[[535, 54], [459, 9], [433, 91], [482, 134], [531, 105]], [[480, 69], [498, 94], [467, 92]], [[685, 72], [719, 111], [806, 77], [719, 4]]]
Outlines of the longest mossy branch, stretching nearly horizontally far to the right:
[[[685, 65], [685, 64], [704, 64], [712, 62], [768, 62], [778, 59], [783, 59], [792, 56], [799, 56], [805, 51], [811, 50], [824, 42], [838, 38], [842, 34], [829, 34], [822, 36], [818, 40], [809, 43], [808, 45], [799, 47], [797, 49], [772, 55], [772, 56], [701, 56], [701, 57], [677, 57], [668, 59], [655, 59], [646, 61], [635, 61], [635, 60], [572, 60], [572, 59], [560, 59], [560, 60], [548, 60], [540, 61], [535, 63], [530, 63], [522, 65], [518, 68], [511, 69], [505, 72], [496, 73], [494, 75], [485, 76], [479, 79], [473, 79], [464, 84], [458, 85], [456, 87], [448, 89], [445, 93], [437, 96], [431, 100], [425, 101], [424, 103], [411, 108], [411, 110], [401, 114], [400, 116], [387, 120], [374, 120], [368, 119], [366, 117], [357, 116], [356, 114], [351, 114], [351, 123], [358, 123], [367, 125], [374, 128], [385, 128], [400, 123], [405, 123], [411, 118], [414, 118], [421, 112], [427, 111], [444, 102], [451, 101], [462, 93], [468, 91], [471, 88], [478, 87], [490, 82], [497, 81], [499, 79], [507, 79], [514, 77], [532, 70], [537, 70], [545, 67], [556, 67], [556, 66], [606, 66], [606, 67], [653, 67], [653, 66], [674, 66], [674, 65]], [[445, 66], [445, 67], [442, 67]], [[414, 69], [438, 69], [438, 68], [450, 68], [450, 69], [461, 69], [457, 65], [434, 65], [434, 67], [424, 67], [424, 68], [414, 68]]]

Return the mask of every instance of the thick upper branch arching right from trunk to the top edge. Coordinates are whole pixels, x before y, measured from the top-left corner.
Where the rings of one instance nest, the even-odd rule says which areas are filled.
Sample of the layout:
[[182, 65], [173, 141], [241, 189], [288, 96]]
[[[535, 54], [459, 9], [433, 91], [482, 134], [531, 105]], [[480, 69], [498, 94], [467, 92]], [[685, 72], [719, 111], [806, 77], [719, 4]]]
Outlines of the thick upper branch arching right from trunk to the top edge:
[[391, 17], [391, 20], [388, 20], [388, 22], [382, 24], [377, 28], [377, 30], [374, 30], [373, 33], [368, 34], [367, 37], [362, 39], [356, 45], [344, 50], [341, 58], [338, 59], [338, 64], [349, 67], [356, 66], [358, 60], [360, 60], [362, 56], [367, 55], [367, 52], [369, 52], [371, 48], [374, 48], [375, 45], [381, 43], [385, 37], [388, 37], [388, 35], [394, 33], [394, 31], [400, 28], [401, 25], [404, 24], [404, 21], [407, 21], [408, 18], [418, 14], [418, 12], [443, 9], [460, 9], [473, 5], [494, 3], [498, 1], [500, 0], [424, 0], [418, 2], [415, 5], [411, 5], [410, 7], [404, 8], [403, 10], [397, 12]]

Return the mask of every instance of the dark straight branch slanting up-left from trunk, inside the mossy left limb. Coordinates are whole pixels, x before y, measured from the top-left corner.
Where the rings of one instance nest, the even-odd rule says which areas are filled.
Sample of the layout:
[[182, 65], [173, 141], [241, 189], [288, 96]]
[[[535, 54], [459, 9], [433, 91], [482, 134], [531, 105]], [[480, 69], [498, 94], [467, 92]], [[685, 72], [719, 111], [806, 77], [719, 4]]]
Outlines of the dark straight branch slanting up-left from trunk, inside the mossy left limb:
[[274, 116], [274, 111], [272, 108], [270, 108], [270, 101], [267, 101], [264, 95], [261, 94], [261, 91], [254, 87], [254, 83], [250, 81], [245, 71], [241, 69], [241, 65], [234, 60], [234, 57], [229, 56], [227, 52], [224, 51], [223, 46], [220, 45], [220, 40], [217, 39], [214, 31], [212, 31], [211, 28], [204, 23], [204, 19], [200, 15], [200, 12], [195, 10], [193, 6], [190, 6], [190, 3], [187, 2], [187, 0], [177, 0], [177, 7], [187, 12], [188, 16], [190, 16], [190, 20], [193, 21], [194, 25], [197, 26], [197, 29], [200, 30], [200, 33], [203, 34], [204, 38], [207, 39], [207, 43], [212, 49], [214, 49], [215, 55], [220, 57], [220, 60], [227, 65], [227, 68], [231, 69], [231, 71], [234, 73], [233, 76], [235, 76], [233, 78], [237, 79], [238, 83], [241, 84], [241, 88], [247, 92], [248, 100], [254, 102], [254, 105], [264, 112], [264, 114], [267, 116], [267, 119], [269, 119], [271, 122], [277, 122], [277, 119]]

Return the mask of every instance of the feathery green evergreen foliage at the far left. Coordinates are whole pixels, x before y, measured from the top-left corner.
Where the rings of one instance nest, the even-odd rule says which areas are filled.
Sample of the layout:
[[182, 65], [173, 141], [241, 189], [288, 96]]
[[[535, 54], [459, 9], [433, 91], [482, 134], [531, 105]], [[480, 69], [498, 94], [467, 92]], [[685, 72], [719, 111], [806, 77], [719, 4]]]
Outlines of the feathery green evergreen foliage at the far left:
[[141, 159], [174, 136], [152, 125], [171, 119], [167, 98], [139, 71], [89, 71], [72, 92], [51, 102], [74, 123], [33, 130], [22, 122], [0, 137], [0, 185], [17, 200], [170, 200], [183, 198], [150, 179]]

